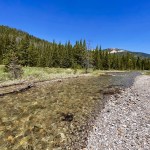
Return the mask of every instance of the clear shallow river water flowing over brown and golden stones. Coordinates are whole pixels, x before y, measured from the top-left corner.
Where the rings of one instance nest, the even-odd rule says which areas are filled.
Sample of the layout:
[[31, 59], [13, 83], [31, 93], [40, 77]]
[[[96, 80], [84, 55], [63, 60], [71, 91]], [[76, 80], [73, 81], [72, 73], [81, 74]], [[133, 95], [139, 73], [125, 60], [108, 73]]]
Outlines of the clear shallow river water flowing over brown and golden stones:
[[0, 97], [0, 149], [84, 148], [93, 113], [104, 107], [106, 96], [131, 86], [138, 75], [108, 72], [70, 78]]

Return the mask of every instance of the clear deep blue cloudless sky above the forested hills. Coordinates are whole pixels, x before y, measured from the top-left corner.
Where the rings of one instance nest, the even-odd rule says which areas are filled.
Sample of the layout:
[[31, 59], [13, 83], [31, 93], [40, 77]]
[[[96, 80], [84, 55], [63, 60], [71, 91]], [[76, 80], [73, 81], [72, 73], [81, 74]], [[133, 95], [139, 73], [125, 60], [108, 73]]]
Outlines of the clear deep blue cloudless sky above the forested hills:
[[48, 41], [150, 53], [149, 0], [0, 0], [0, 25]]

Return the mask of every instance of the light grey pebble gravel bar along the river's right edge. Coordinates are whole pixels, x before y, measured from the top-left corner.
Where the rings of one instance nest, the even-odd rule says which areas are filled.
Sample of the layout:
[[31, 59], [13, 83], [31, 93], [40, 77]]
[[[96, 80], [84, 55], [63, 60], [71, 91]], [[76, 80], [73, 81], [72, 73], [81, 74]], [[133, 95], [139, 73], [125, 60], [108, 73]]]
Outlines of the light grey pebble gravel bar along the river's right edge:
[[150, 76], [110, 96], [92, 126], [87, 150], [150, 150]]

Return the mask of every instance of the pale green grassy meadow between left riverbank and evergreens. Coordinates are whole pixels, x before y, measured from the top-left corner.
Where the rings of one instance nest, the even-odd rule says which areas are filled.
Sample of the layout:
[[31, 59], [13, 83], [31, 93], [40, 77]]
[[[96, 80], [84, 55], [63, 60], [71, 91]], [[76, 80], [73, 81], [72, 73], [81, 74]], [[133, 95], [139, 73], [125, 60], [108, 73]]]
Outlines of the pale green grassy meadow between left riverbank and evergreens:
[[20, 82], [24, 80], [50, 80], [54, 78], [65, 78], [74, 75], [83, 74], [83, 69], [74, 70], [71, 68], [42, 68], [42, 67], [23, 67], [23, 76], [21, 79], [12, 80], [9, 74], [4, 72], [4, 66], [0, 65], [0, 83], [6, 82]]

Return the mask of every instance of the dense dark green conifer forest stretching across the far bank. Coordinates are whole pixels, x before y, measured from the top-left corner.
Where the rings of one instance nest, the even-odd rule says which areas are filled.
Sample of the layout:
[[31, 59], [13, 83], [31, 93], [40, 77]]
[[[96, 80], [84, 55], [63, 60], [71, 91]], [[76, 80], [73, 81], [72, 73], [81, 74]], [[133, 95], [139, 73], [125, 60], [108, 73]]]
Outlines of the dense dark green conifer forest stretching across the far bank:
[[0, 64], [8, 64], [12, 56], [22, 66], [149, 70], [150, 59], [131, 53], [111, 54], [101, 47], [88, 49], [85, 40], [65, 44], [48, 42], [26, 32], [0, 26]]

